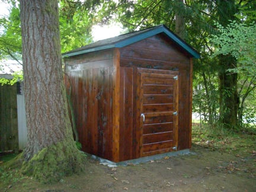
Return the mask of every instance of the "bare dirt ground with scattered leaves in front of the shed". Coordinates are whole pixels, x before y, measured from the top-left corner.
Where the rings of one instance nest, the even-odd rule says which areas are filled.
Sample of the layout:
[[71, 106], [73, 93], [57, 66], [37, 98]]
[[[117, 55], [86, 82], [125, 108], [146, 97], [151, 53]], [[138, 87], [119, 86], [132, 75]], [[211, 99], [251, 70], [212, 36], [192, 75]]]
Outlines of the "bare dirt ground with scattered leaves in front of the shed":
[[126, 167], [90, 159], [86, 173], [57, 184], [21, 178], [0, 185], [0, 191], [256, 191], [255, 151], [223, 152], [194, 144], [191, 152]]

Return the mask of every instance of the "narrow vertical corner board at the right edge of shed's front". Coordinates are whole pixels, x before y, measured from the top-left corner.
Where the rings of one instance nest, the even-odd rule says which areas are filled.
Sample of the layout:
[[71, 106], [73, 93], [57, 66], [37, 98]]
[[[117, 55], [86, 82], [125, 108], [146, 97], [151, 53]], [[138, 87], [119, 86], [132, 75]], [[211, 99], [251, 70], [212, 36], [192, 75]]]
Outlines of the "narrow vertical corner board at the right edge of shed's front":
[[189, 141], [188, 148], [192, 142], [192, 96], [193, 96], [193, 58], [190, 58], [190, 114], [189, 114]]

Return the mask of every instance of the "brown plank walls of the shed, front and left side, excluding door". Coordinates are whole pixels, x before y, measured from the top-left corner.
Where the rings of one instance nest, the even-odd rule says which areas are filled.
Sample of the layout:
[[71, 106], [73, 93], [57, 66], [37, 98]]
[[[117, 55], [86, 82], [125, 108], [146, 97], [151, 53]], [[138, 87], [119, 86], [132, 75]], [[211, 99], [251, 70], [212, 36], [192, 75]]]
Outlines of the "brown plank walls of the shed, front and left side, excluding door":
[[[68, 78], [71, 82], [76, 128], [83, 151], [115, 162], [141, 156], [143, 133], [138, 85], [139, 73], [145, 69], [178, 75], [177, 148], [191, 148], [192, 60], [167, 36], [158, 34], [126, 47], [72, 56], [65, 59], [65, 64], [65, 81], [66, 85]], [[161, 94], [154, 98], [158, 103], [167, 100]], [[153, 139], [148, 137], [145, 138], [149, 141]]]

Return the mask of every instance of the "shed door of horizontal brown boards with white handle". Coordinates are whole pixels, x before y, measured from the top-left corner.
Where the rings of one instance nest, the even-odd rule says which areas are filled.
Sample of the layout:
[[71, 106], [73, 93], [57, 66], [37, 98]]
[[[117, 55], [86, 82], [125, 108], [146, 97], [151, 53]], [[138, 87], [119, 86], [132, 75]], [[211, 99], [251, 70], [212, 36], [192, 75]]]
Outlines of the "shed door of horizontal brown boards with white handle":
[[175, 151], [178, 143], [178, 75], [149, 71], [138, 73], [140, 156]]

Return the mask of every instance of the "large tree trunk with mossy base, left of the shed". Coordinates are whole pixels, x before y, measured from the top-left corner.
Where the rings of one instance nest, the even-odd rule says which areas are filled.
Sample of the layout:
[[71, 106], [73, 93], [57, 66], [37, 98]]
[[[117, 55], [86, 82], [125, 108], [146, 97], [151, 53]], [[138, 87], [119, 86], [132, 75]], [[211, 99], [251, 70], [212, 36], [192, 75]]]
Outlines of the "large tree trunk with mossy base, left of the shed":
[[60, 53], [57, 0], [22, 0], [21, 28], [28, 143], [23, 170], [42, 181], [78, 171]]

